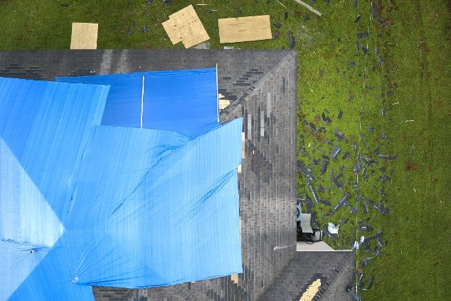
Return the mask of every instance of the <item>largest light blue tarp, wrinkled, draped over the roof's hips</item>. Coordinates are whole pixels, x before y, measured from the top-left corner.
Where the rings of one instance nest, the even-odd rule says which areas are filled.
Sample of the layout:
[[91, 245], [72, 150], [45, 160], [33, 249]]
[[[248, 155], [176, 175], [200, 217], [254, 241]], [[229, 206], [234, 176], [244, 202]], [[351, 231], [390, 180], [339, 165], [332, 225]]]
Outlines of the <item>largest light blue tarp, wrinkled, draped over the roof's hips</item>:
[[0, 300], [242, 272], [242, 120], [198, 135], [100, 125], [109, 90], [0, 78]]

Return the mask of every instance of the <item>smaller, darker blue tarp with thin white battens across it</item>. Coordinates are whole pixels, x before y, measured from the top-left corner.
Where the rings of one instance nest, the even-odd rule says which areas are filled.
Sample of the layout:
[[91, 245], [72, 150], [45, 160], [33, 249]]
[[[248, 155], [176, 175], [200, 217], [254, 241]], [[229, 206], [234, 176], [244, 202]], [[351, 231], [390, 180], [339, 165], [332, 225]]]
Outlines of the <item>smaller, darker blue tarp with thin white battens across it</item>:
[[196, 136], [219, 125], [216, 68], [56, 80], [110, 85], [102, 125], [143, 127], [189, 136]]

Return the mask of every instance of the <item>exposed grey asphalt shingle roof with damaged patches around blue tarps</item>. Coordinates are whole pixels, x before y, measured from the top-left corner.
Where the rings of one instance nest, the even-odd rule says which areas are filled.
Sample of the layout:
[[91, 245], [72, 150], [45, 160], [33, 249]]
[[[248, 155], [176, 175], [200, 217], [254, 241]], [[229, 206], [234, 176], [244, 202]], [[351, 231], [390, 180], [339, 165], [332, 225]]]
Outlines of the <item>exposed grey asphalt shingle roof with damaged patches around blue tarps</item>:
[[[349, 255], [346, 259], [333, 252], [296, 252], [295, 51], [0, 51], [0, 76], [36, 80], [215, 65], [219, 92], [231, 101], [222, 110], [221, 121], [243, 117], [245, 157], [238, 185], [244, 273], [238, 275], [238, 284], [230, 277], [223, 277], [155, 287], [146, 291], [149, 300], [277, 300], [272, 296], [282, 288], [299, 300], [301, 289], [309, 284], [306, 281], [319, 274], [327, 281], [332, 278], [334, 281], [322, 286], [322, 299], [318, 300], [347, 300], [341, 290], [345, 290], [343, 283], [351, 284]], [[324, 256], [329, 259], [324, 260]], [[305, 265], [312, 262], [316, 262], [316, 270], [309, 270], [312, 267]], [[337, 268], [342, 262], [343, 267]], [[296, 270], [302, 271], [304, 282], [288, 281], [297, 275]], [[137, 290], [108, 287], [93, 290], [96, 300], [102, 301], [134, 300], [137, 295]], [[335, 291], [345, 299], [327, 297], [328, 292]], [[295, 295], [295, 292], [299, 293]], [[283, 300], [293, 300], [290, 298]]]

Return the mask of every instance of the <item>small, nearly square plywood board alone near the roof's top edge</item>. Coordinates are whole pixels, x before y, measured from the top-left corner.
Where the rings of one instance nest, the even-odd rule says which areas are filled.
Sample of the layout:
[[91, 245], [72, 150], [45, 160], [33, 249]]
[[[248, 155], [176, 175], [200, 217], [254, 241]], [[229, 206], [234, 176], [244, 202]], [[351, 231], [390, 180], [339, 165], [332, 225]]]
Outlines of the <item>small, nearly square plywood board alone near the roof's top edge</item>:
[[70, 49], [97, 49], [98, 23], [72, 23]]

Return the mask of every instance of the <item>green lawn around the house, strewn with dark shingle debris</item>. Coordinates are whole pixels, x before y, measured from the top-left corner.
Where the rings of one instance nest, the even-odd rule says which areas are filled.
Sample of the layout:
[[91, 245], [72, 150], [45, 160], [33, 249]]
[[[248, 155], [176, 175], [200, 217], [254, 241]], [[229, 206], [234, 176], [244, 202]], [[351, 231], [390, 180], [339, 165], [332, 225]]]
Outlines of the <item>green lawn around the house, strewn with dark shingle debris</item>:
[[[163, 6], [160, 0], [148, 5], [145, 0], [0, 1], [0, 48], [69, 48], [72, 22], [100, 24], [97, 48], [181, 48], [181, 44], [170, 43], [161, 22], [188, 4], [202, 2], [174, 0]], [[312, 169], [319, 198], [331, 204], [312, 208], [317, 223], [324, 226], [329, 221], [348, 220], [341, 223], [338, 240], [328, 239], [334, 248], [351, 248], [361, 235], [383, 231], [381, 255], [362, 249], [356, 252], [356, 268], [364, 273], [364, 287], [369, 275], [375, 276], [370, 290], [359, 288], [364, 300], [446, 300], [450, 280], [446, 267], [451, 266], [447, 224], [450, 4], [445, 0], [378, 1], [375, 7], [386, 22], [383, 27], [369, 13], [370, 1], [358, 1], [357, 6], [353, 1], [316, 1], [314, 7], [322, 17], [295, 1], [280, 2], [287, 8], [275, 0], [206, 0], [210, 5], [195, 7], [211, 37], [211, 48], [224, 46], [219, 44], [219, 18], [270, 14], [272, 23], [280, 23], [280, 28], [272, 25], [272, 31], [280, 33], [278, 37], [227, 45], [235, 48], [287, 48], [287, 34], [295, 36], [298, 159]], [[356, 23], [357, 16], [361, 19]], [[141, 32], [142, 26], [147, 26], [147, 33]], [[356, 38], [361, 32], [369, 36]], [[368, 48], [368, 56], [358, 50], [356, 41]], [[329, 125], [322, 120], [323, 112], [331, 120]], [[312, 132], [309, 123], [317, 132]], [[334, 130], [343, 132], [345, 139], [338, 142]], [[330, 159], [327, 172], [320, 174], [323, 156], [330, 157], [334, 146], [341, 147], [339, 159]], [[381, 154], [393, 154], [397, 159], [378, 158], [373, 152], [377, 147]], [[341, 159], [345, 152], [349, 159]], [[361, 170], [359, 176], [354, 172], [357, 154], [376, 161], [367, 167], [367, 176], [362, 176]], [[331, 171], [342, 173], [341, 188], [331, 183]], [[382, 182], [380, 176], [389, 179]], [[312, 198], [302, 176], [297, 182], [299, 196]], [[344, 191], [351, 194], [351, 204], [331, 211]], [[365, 200], [381, 200], [389, 213], [383, 216], [371, 209], [364, 214], [363, 201], [356, 201], [359, 194]], [[357, 213], [349, 212], [351, 206], [357, 206]], [[360, 231], [359, 221], [371, 224], [374, 230]], [[375, 242], [371, 251], [374, 247]], [[369, 256], [375, 260], [361, 267], [361, 260]]]

